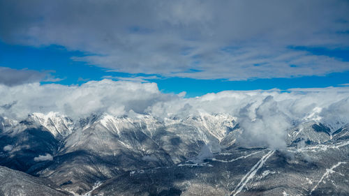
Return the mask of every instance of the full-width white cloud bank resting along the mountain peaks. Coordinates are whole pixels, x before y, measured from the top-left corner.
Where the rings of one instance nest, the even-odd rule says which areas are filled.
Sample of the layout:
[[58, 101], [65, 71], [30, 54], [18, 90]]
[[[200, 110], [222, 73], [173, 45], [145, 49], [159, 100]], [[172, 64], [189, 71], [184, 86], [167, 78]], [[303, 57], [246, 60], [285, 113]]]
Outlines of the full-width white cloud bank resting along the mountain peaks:
[[33, 112], [59, 112], [73, 119], [94, 113], [150, 114], [158, 119], [230, 114], [244, 129], [241, 142], [280, 148], [285, 130], [320, 121], [332, 130], [349, 123], [349, 87], [279, 91], [222, 91], [197, 98], [167, 94], [156, 83], [91, 81], [81, 86], [0, 84], [0, 116], [24, 119]]

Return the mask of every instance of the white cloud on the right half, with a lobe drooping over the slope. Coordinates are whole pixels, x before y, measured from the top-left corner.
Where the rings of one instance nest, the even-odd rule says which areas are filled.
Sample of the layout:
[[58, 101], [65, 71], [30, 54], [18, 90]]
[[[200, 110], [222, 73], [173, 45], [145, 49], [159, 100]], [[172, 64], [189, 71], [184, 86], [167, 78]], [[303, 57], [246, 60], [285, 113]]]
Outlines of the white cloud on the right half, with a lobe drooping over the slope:
[[[306, 119], [322, 108], [313, 119]], [[318, 120], [333, 130], [349, 123], [349, 88], [294, 89], [290, 92], [223, 91], [198, 98], [170, 100], [149, 108], [156, 116], [225, 113], [237, 117], [244, 129], [243, 146], [285, 146], [285, 130], [294, 124]], [[306, 120], [305, 120], [306, 119]]]

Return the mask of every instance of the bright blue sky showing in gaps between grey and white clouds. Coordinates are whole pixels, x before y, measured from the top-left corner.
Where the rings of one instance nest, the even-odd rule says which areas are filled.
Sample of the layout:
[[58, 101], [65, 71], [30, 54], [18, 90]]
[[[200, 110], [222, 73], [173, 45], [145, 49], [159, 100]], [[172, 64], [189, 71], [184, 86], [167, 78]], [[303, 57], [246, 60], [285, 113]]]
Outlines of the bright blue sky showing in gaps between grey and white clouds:
[[[102, 80], [106, 75], [114, 77], [135, 77], [128, 73], [107, 72], [105, 68], [87, 65], [73, 61], [72, 56], [84, 56], [83, 52], [67, 51], [64, 47], [51, 45], [48, 47], [31, 47], [23, 45], [8, 45], [0, 43], [0, 66], [14, 69], [30, 69], [52, 71], [54, 77], [62, 79], [59, 82], [42, 82], [57, 84], [82, 84], [89, 80]], [[323, 50], [302, 48], [321, 55], [334, 56], [349, 61], [348, 50]], [[202, 96], [205, 93], [217, 93], [226, 90], [255, 90], [255, 89], [291, 89], [291, 88], [321, 88], [341, 86], [349, 82], [349, 71], [330, 73], [324, 76], [306, 76], [292, 78], [253, 79], [242, 81], [228, 80], [196, 80], [191, 78], [169, 77], [156, 82], [159, 89], [165, 93], [181, 93], [186, 91], [187, 97]]]

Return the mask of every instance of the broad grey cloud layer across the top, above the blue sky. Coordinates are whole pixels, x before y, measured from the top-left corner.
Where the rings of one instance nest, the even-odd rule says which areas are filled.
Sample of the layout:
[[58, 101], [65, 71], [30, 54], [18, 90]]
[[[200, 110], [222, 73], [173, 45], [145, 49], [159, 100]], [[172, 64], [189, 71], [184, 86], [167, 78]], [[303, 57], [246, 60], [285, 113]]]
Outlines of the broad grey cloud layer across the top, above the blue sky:
[[326, 75], [348, 71], [348, 62], [311, 49], [348, 49], [348, 10], [345, 0], [0, 1], [0, 38], [80, 50], [86, 56], [75, 61], [124, 73]]

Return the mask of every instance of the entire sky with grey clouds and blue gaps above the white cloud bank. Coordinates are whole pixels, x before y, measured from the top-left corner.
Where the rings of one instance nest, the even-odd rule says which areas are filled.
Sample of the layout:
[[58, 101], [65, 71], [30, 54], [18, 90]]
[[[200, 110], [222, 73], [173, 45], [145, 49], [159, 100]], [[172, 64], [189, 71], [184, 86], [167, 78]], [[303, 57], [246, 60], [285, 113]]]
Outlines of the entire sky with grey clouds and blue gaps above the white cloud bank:
[[0, 0], [0, 84], [155, 82], [186, 97], [349, 83], [349, 1]]

